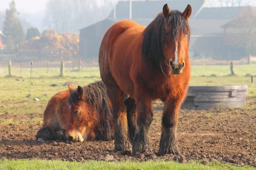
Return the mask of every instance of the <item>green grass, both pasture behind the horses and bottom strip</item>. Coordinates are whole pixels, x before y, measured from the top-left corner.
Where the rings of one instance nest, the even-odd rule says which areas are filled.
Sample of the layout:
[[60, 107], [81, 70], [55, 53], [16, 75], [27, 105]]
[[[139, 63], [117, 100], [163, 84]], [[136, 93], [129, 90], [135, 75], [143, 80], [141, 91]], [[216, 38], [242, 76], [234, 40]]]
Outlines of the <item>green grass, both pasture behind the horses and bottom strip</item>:
[[[256, 76], [256, 64], [235, 66], [236, 76], [230, 76], [229, 66], [192, 66], [190, 86], [198, 85], [248, 85], [248, 98], [245, 109], [256, 108], [256, 85], [251, 83], [248, 75]], [[30, 120], [4, 119], [2, 114], [42, 113], [47, 102], [56, 92], [67, 89], [66, 82], [72, 81], [78, 85], [86, 85], [100, 80], [99, 68], [83, 68], [81, 72], [67, 71], [65, 77], [59, 77], [59, 68], [20, 68], [12, 69], [12, 77], [8, 77], [8, 68], [0, 67], [0, 124], [32, 124], [41, 123], [42, 119]], [[31, 80], [30, 80], [31, 75]], [[247, 76], [246, 76], [247, 75]], [[254, 82], [256, 78], [254, 78]], [[33, 85], [30, 83], [33, 82]], [[50, 86], [57, 84], [56, 87]], [[74, 84], [73, 86], [76, 86]], [[30, 98], [26, 95], [31, 93]], [[34, 102], [38, 98], [39, 102]], [[0, 135], [1, 136], [1, 135]], [[46, 160], [0, 160], [0, 169], [253, 169], [252, 167], [236, 167], [222, 163], [210, 162], [203, 165], [200, 162], [98, 162], [86, 163], [61, 162]]]

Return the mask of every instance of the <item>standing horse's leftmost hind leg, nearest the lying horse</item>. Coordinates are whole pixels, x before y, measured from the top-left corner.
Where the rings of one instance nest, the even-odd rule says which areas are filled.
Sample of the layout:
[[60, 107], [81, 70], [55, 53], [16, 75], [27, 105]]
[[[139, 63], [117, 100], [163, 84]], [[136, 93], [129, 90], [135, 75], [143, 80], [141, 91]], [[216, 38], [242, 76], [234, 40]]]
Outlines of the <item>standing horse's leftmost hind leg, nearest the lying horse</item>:
[[113, 106], [115, 151], [131, 151], [124, 94], [117, 85], [106, 84], [106, 91]]

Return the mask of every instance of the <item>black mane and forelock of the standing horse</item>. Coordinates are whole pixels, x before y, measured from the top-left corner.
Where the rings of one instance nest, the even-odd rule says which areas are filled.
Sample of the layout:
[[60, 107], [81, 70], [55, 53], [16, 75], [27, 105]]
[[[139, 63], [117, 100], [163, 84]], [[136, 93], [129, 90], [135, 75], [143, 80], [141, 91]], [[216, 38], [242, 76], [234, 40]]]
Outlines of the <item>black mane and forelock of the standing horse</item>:
[[[166, 33], [168, 26], [171, 26], [171, 29], [169, 33]], [[167, 36], [170, 36], [170, 38], [177, 42], [179, 41], [179, 35], [181, 33], [185, 34], [185, 31], [190, 32], [190, 29], [183, 13], [173, 10], [167, 19], [165, 19], [162, 12], [159, 13], [144, 31], [141, 52], [145, 61], [153, 67], [164, 66], [165, 56], [163, 47]]]

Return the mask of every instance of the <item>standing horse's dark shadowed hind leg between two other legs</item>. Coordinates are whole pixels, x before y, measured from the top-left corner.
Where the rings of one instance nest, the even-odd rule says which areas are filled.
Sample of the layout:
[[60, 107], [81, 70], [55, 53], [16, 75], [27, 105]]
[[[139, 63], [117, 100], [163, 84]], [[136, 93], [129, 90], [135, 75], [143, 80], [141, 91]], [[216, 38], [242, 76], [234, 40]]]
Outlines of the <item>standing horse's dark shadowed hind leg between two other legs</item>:
[[136, 104], [135, 100], [132, 98], [127, 98], [124, 101], [126, 105], [126, 112], [127, 112], [127, 122], [128, 122], [128, 127], [129, 127], [129, 134], [130, 134], [130, 139], [133, 141], [135, 131], [136, 131], [136, 115], [135, 115], [135, 109], [136, 109]]

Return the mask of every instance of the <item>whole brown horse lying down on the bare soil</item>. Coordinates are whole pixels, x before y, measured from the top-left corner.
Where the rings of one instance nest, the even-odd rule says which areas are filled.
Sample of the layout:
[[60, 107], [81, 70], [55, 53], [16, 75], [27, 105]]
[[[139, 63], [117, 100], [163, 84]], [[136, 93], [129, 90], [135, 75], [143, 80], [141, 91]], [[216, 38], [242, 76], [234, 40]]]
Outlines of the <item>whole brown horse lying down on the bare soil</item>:
[[55, 94], [44, 112], [36, 140], [111, 140], [111, 105], [102, 82]]

